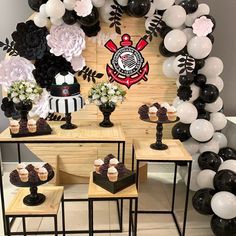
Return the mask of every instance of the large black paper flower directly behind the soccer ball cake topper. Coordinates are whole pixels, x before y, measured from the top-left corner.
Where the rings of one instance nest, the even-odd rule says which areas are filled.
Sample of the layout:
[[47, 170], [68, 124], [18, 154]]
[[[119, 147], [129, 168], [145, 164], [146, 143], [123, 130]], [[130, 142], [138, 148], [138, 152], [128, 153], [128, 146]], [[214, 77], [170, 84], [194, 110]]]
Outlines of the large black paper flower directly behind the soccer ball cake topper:
[[34, 66], [33, 75], [37, 83], [48, 90], [50, 90], [51, 84], [58, 73], [75, 73], [70, 62], [64, 57], [57, 57], [49, 52], [42, 59], [37, 60]]

